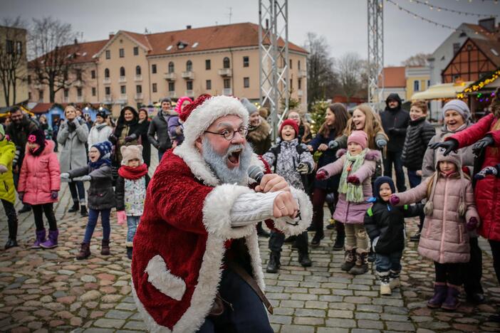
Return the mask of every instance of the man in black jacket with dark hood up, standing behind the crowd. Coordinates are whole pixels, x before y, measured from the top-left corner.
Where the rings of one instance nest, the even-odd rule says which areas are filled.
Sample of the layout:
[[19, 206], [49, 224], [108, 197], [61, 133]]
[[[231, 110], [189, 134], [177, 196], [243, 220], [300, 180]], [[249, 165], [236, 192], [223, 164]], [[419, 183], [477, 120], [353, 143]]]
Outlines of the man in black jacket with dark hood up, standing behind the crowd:
[[410, 114], [402, 110], [401, 98], [392, 93], [385, 100], [385, 110], [380, 113], [382, 127], [389, 137], [387, 154], [384, 159], [384, 176], [392, 177], [392, 164], [396, 171], [396, 186], [398, 192], [406, 191], [405, 174], [402, 170], [402, 149], [405, 144], [406, 129], [410, 122]]

